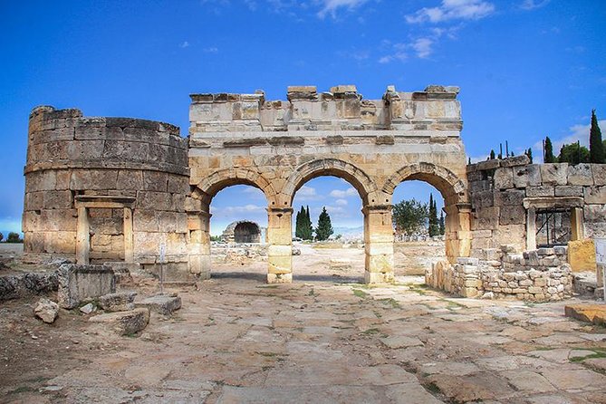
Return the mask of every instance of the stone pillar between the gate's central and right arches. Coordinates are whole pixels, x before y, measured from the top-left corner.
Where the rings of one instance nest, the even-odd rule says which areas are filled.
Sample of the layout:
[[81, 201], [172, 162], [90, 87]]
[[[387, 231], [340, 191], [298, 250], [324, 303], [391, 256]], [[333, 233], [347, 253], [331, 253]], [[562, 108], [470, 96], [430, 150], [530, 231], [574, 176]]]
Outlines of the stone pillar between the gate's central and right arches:
[[368, 206], [364, 214], [364, 252], [366, 284], [393, 282], [393, 223], [391, 206]]

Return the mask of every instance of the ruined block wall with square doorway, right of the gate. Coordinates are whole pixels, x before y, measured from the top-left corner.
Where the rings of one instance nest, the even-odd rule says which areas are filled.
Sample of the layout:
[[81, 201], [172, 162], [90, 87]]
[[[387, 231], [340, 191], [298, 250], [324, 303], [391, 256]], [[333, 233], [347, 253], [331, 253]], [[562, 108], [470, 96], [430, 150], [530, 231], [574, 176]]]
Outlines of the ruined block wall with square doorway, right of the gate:
[[534, 249], [526, 226], [533, 209], [542, 207], [578, 208], [575, 236], [606, 236], [606, 165], [529, 164], [525, 156], [492, 159], [468, 165], [467, 180], [472, 256], [483, 258], [484, 249], [501, 245], [514, 245], [519, 252]]

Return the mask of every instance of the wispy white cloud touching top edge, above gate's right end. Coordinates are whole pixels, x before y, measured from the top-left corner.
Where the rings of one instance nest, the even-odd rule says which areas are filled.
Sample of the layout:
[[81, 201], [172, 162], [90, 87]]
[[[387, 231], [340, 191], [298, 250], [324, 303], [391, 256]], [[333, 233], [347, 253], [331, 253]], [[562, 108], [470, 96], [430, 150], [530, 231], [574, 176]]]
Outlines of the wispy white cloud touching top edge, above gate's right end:
[[409, 24], [449, 20], [479, 20], [495, 12], [495, 5], [483, 0], [442, 0], [438, 7], [423, 7], [415, 14], [406, 16]]

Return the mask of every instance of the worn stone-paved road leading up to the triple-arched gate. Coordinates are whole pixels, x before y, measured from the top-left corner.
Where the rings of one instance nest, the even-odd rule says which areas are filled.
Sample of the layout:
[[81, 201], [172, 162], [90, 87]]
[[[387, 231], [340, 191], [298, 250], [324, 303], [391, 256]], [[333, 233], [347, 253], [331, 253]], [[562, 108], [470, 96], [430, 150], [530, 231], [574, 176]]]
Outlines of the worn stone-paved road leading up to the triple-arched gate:
[[85, 324], [84, 343], [101, 343], [90, 363], [5, 399], [606, 402], [606, 329], [566, 319], [563, 303], [451, 298], [407, 282], [267, 285], [263, 274], [222, 274], [180, 291], [183, 308], [152, 316], [138, 338]]

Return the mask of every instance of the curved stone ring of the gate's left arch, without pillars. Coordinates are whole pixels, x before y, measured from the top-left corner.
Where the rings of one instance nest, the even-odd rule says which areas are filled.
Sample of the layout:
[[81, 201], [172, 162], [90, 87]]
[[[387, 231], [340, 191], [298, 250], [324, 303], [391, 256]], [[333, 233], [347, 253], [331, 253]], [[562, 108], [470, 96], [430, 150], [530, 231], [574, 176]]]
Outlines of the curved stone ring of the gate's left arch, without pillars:
[[197, 184], [192, 195], [210, 204], [211, 199], [221, 189], [233, 185], [250, 185], [259, 188], [267, 200], [276, 195], [274, 186], [265, 177], [255, 170], [245, 168], [226, 168], [212, 173]]

